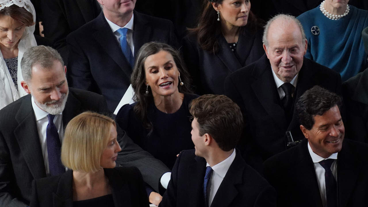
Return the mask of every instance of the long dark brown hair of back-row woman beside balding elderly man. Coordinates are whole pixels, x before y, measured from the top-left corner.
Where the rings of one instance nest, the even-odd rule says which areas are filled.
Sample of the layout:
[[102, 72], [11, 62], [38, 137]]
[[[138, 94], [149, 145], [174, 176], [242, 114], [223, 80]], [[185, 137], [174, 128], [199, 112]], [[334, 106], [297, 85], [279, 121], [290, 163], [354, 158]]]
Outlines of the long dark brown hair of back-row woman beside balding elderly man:
[[[217, 0], [216, 2], [221, 4], [222, 1]], [[198, 20], [198, 27], [189, 29], [189, 32], [197, 35], [198, 44], [203, 50], [216, 54], [220, 49], [218, 36], [222, 35], [221, 22], [217, 21], [217, 11], [213, 9], [210, 1], [203, 0], [202, 8], [202, 14]], [[262, 28], [263, 24], [264, 22], [257, 20], [252, 11], [249, 11], [247, 25], [240, 28], [239, 34], [245, 32], [245, 27], [249, 28], [252, 32], [256, 32], [259, 28]]]

